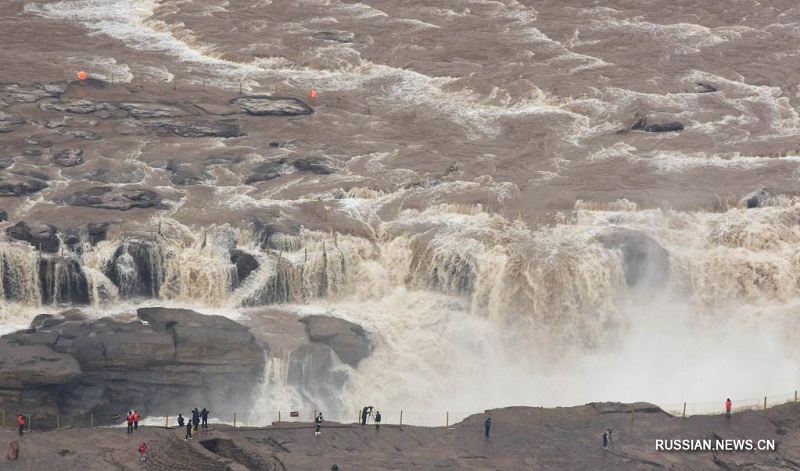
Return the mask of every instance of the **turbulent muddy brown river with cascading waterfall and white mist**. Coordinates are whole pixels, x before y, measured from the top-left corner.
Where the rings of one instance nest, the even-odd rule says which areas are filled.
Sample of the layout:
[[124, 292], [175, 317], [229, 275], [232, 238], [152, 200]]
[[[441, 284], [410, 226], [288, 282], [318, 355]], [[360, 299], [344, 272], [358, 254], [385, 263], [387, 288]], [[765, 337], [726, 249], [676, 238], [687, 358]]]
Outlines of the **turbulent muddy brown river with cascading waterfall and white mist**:
[[374, 339], [319, 397], [274, 335], [265, 409], [800, 385], [794, 1], [7, 0], [0, 31], [4, 332], [166, 305]]

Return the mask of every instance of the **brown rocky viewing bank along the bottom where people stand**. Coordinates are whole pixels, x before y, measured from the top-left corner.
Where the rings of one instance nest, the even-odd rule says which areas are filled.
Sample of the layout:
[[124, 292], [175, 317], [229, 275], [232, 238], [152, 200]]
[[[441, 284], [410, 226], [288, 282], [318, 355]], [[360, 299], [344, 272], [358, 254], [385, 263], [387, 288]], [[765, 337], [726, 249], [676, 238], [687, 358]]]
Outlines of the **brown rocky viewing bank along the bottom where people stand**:
[[[0, 430], [0, 441], [19, 442], [19, 458], [4, 460], [9, 471], [340, 471], [389, 469], [442, 470], [734, 470], [800, 469], [800, 411], [785, 404], [766, 411], [714, 416], [672, 417], [645, 403], [593, 403], [539, 409], [488, 410], [450, 427], [414, 427], [384, 423], [326, 422], [314, 435], [310, 422], [273, 423], [264, 428], [213, 425], [195, 440], [183, 430], [139, 427], [132, 438], [124, 428], [60, 429], [31, 432]], [[484, 420], [492, 418], [490, 436]], [[611, 449], [603, 449], [603, 431], [611, 428]], [[688, 440], [736, 446], [750, 451], [657, 449], [657, 440]], [[749, 442], [748, 442], [749, 441]], [[141, 442], [149, 460], [139, 461]], [[759, 444], [774, 444], [758, 450]]]

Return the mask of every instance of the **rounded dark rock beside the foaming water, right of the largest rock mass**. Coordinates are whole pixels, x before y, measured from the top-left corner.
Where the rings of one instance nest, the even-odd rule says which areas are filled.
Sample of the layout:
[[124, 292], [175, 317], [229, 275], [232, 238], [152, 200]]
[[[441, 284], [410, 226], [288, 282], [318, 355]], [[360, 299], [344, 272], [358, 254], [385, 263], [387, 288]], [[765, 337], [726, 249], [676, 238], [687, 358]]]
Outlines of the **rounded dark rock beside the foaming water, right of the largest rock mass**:
[[307, 316], [300, 319], [309, 340], [329, 346], [339, 359], [355, 368], [372, 353], [374, 342], [358, 324], [329, 316]]

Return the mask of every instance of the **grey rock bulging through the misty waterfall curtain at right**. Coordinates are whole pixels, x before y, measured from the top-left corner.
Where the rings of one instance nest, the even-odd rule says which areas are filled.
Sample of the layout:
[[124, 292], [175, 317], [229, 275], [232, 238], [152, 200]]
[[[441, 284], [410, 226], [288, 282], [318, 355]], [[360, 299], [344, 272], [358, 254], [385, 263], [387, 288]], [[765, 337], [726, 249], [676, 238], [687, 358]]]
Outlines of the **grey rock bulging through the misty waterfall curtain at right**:
[[597, 240], [606, 249], [622, 251], [628, 286], [658, 288], [669, 281], [669, 252], [647, 234], [616, 227]]

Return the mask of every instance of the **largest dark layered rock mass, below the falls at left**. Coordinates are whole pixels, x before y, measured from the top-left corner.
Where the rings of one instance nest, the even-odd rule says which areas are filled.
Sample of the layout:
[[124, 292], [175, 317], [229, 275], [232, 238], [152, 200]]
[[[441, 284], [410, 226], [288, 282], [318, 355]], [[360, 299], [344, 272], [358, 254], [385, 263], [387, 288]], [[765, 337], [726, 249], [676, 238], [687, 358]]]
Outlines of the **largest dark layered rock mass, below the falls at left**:
[[131, 404], [146, 415], [173, 414], [186, 404], [224, 415], [252, 401], [268, 348], [247, 328], [181, 309], [140, 309], [138, 317], [39, 321], [5, 336], [4, 404], [19, 408], [24, 401], [46, 428], [56, 414], [62, 420], [94, 414], [97, 425], [109, 425], [112, 414]]

